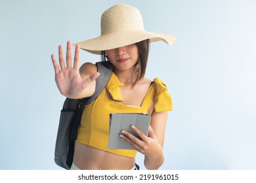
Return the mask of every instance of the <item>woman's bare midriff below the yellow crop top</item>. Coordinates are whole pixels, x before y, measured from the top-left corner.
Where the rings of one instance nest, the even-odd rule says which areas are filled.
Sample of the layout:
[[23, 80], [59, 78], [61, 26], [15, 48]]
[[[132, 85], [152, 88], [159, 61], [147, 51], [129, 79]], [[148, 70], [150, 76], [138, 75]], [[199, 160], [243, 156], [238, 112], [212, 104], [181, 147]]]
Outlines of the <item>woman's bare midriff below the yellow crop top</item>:
[[135, 158], [127, 158], [75, 142], [74, 163], [82, 170], [129, 170]]

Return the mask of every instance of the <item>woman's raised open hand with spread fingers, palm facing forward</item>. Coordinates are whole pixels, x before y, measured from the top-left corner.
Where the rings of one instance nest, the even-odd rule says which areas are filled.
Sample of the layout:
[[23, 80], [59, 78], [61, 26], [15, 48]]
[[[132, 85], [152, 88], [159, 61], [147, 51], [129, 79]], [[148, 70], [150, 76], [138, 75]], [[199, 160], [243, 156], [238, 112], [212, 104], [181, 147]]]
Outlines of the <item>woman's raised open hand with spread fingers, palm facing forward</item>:
[[[99, 73], [93, 73], [88, 75], [86, 78], [81, 78], [79, 73], [79, 45], [75, 46], [75, 57], [74, 66], [72, 67], [72, 49], [71, 42], [67, 42], [67, 52], [66, 52], [66, 66], [62, 51], [62, 46], [58, 46], [58, 58], [60, 67], [55, 59], [54, 54], [51, 55], [53, 61], [53, 67], [55, 70], [55, 81], [58, 86], [58, 90], [62, 95], [75, 99], [81, 93], [95, 81]], [[82, 94], [83, 95], [83, 94]], [[84, 97], [87, 97], [86, 95]]]

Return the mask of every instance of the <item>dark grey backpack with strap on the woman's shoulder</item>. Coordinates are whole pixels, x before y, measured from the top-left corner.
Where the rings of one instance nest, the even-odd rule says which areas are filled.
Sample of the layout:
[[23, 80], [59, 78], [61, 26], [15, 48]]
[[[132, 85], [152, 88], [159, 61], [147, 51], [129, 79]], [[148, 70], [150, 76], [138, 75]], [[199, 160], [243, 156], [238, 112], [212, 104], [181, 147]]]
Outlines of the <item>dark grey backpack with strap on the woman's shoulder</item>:
[[109, 61], [99, 61], [96, 63], [96, 67], [100, 76], [96, 78], [95, 93], [91, 97], [83, 99], [66, 98], [60, 112], [54, 161], [64, 169], [70, 169], [73, 163], [77, 129], [81, 122], [84, 105], [91, 103], [98, 97], [112, 75], [112, 64]]

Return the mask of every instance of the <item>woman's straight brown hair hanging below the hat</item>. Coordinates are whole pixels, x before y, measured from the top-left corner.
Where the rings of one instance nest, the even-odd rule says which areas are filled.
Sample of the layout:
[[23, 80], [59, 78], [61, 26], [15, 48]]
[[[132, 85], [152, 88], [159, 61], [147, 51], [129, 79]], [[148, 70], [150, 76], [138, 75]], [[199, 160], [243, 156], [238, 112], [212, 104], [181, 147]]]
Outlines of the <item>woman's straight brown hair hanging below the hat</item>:
[[[135, 82], [133, 82], [133, 86], [139, 82], [140, 79], [142, 79], [146, 73], [146, 65], [148, 63], [148, 53], [150, 49], [150, 41], [149, 39], [146, 39], [144, 41], [136, 42], [139, 52], [139, 59], [136, 63], [136, 66], [138, 65], [137, 70], [137, 77], [135, 79]], [[101, 60], [102, 61], [109, 61], [108, 56], [106, 56], [106, 52], [101, 52]]]

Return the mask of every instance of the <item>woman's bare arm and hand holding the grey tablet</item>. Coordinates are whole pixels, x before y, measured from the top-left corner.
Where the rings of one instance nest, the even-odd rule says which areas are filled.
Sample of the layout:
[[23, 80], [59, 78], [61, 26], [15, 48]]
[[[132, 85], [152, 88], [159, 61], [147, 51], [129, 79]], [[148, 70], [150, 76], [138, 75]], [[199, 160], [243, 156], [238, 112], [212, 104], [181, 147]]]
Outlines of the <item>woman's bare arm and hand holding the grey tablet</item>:
[[120, 135], [123, 141], [134, 146], [137, 151], [144, 154], [144, 165], [146, 169], [158, 169], [164, 161], [163, 141], [165, 137], [165, 125], [168, 112], [153, 112], [148, 131], [148, 137], [137, 127], [132, 126], [133, 130], [140, 136], [141, 141], [128, 131], [122, 131]]

